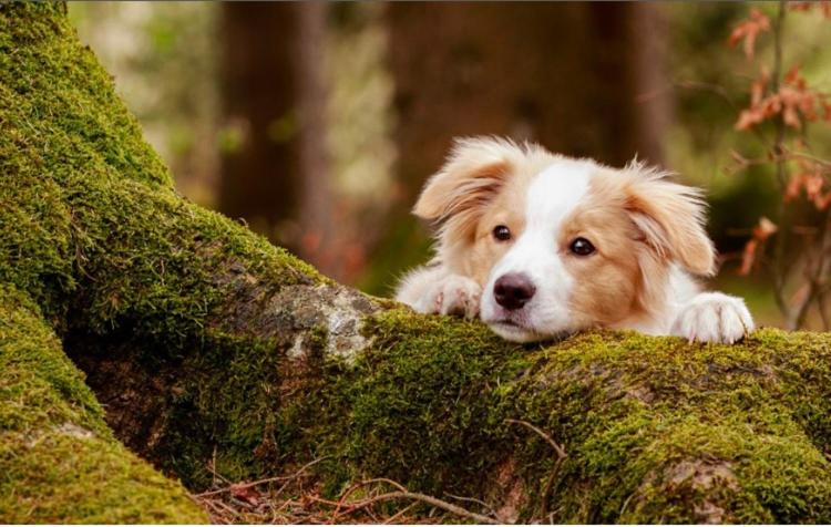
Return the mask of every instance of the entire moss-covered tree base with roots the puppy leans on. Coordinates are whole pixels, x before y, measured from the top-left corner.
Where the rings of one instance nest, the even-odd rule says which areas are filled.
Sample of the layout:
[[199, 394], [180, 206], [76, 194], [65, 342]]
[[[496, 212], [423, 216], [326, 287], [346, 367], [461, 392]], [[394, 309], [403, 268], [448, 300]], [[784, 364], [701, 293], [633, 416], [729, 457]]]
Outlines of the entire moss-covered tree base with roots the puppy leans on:
[[59, 4], [0, 6], [0, 521], [198, 519], [102, 404], [191, 489], [321, 459], [504, 521], [831, 521], [827, 334], [522, 347], [331, 282], [175, 194]]

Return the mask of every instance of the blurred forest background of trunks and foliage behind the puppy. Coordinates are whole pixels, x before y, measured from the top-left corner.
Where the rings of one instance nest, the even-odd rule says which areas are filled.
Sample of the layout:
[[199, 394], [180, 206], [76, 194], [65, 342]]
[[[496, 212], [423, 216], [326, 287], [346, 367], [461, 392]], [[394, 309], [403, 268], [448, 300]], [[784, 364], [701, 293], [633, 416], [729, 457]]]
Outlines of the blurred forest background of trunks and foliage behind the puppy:
[[[759, 64], [776, 65], [776, 39], [743, 25], [756, 38], [752, 60], [728, 40], [758, 13], [783, 22], [781, 62], [821, 94], [831, 90], [831, 21], [819, 9], [779, 20], [778, 8], [69, 3], [179, 192], [342, 282], [389, 294], [423, 262], [429, 229], [409, 214], [423, 182], [452, 137], [497, 134], [617, 166], [637, 154], [704, 187], [722, 259], [714, 287], [745, 296], [762, 324], [786, 326], [769, 272], [739, 272], [748, 240], [770, 234], [759, 234], [759, 218], [783, 214], [777, 163], [752, 159], [790, 130], [737, 127], [759, 102]], [[829, 128], [810, 123], [812, 156], [831, 155]], [[779, 256], [800, 261], [820, 242], [828, 204], [794, 206], [804, 214], [791, 225], [804, 236]], [[804, 293], [792, 289], [787, 301], [799, 302]], [[820, 328], [824, 285], [814, 292], [820, 303], [803, 326]]]

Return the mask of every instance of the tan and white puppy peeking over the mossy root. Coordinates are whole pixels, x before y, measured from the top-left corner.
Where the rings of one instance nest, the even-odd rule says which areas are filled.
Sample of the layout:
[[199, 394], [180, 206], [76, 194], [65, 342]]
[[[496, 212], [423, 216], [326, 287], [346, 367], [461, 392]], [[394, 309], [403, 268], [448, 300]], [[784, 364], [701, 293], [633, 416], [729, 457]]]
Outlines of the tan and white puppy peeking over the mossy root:
[[716, 264], [699, 190], [640, 163], [460, 140], [413, 211], [440, 224], [434, 259], [398, 288], [417, 311], [480, 317], [519, 342], [605, 327], [731, 343], [753, 329], [741, 299], [693, 278]]

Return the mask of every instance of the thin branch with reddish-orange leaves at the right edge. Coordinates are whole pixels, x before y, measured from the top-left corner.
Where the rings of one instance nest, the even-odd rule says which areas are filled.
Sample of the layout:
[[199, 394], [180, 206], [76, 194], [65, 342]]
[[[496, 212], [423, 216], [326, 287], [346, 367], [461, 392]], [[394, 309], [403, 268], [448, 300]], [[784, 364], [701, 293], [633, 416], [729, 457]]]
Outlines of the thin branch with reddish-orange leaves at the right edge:
[[[753, 228], [751, 238], [745, 245], [740, 275], [749, 275], [763, 260], [767, 248], [774, 245], [774, 258], [770, 266], [774, 283], [777, 303], [784, 314], [788, 327], [798, 329], [806, 322], [810, 304], [818, 303], [824, 316], [823, 296], [820, 289], [829, 273], [829, 258], [827, 245], [831, 244], [831, 232], [825, 219], [829, 218], [831, 206], [831, 162], [815, 156], [807, 140], [806, 124], [809, 122], [831, 123], [831, 97], [828, 93], [809, 86], [802, 75], [799, 64], [791, 66], [782, 74], [783, 27], [787, 10], [810, 12], [819, 10], [825, 18], [831, 18], [831, 2], [779, 2], [779, 10], [773, 23], [758, 9], [751, 9], [747, 20], [740, 22], [731, 32], [728, 45], [742, 43], [745, 56], [753, 61], [756, 44], [761, 34], [771, 32], [773, 37], [774, 61], [772, 72], [766, 66], [759, 68], [759, 74], [750, 84], [750, 104], [739, 112], [733, 127], [739, 132], [755, 132], [766, 123], [772, 123], [776, 134], [765, 159], [748, 159], [733, 153], [733, 159], [741, 168], [750, 165], [772, 163], [776, 165], [780, 194], [777, 225], [767, 217], [759, 219]], [[788, 146], [791, 143], [792, 146]], [[801, 276], [791, 277], [794, 268], [794, 256], [791, 252], [790, 236], [793, 229], [788, 226], [793, 209], [801, 199], [811, 204], [822, 213], [822, 227], [813, 229], [822, 231], [819, 244], [800, 255], [804, 259]], [[804, 230], [804, 229], [803, 229]], [[808, 229], [807, 231], [811, 231]], [[793, 281], [801, 283], [791, 283]], [[794, 288], [796, 293], [787, 298], [787, 288]], [[824, 323], [824, 322], [823, 322]], [[828, 329], [828, 328], [827, 328]]]

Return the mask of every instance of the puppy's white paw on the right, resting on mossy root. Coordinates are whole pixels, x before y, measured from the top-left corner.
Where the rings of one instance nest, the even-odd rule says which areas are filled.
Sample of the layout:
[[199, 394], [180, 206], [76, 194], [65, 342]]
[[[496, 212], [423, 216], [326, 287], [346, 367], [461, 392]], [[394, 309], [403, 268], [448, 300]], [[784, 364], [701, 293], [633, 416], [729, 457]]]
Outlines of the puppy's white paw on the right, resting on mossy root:
[[702, 292], [686, 304], [673, 324], [673, 334], [688, 341], [732, 344], [753, 330], [745, 301], [720, 292]]

